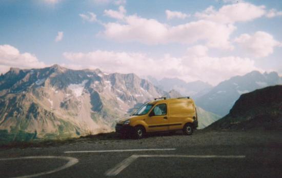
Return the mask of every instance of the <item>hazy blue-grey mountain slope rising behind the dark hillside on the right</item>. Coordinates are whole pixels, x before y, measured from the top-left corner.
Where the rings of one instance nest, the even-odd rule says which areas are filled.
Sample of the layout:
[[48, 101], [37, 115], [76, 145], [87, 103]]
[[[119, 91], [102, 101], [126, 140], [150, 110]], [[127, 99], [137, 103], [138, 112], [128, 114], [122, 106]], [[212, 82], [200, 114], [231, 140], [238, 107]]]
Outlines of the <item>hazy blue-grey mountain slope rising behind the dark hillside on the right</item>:
[[195, 98], [195, 101], [206, 111], [225, 116], [241, 94], [278, 84], [282, 84], [282, 79], [277, 72], [252, 71], [219, 83], [208, 93]]

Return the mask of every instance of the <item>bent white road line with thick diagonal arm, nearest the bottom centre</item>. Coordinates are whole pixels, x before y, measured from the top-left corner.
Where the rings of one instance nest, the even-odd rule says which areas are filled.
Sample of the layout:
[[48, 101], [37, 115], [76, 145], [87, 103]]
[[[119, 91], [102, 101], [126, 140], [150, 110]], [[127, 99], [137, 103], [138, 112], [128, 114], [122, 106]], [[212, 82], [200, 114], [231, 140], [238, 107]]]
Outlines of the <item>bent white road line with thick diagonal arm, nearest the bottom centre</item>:
[[137, 158], [227, 158], [227, 159], [241, 159], [245, 158], [245, 155], [132, 155], [131, 157], [125, 159], [124, 161], [118, 163], [115, 167], [107, 170], [105, 175], [115, 176], [119, 172], [122, 172], [126, 167], [128, 167]]

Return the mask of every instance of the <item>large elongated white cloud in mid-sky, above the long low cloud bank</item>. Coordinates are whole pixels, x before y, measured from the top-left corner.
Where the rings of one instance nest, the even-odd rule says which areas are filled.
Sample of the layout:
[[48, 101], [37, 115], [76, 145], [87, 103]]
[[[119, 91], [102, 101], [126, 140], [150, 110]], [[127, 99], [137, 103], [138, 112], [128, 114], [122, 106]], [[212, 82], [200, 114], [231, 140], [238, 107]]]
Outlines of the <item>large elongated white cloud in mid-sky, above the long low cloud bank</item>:
[[232, 48], [229, 36], [236, 29], [232, 24], [218, 24], [207, 20], [169, 26], [155, 19], [146, 19], [137, 15], [124, 17], [123, 23], [105, 23], [104, 27], [105, 31], [100, 32], [99, 35], [119, 42], [192, 44], [205, 41], [209, 47], [229, 49]]

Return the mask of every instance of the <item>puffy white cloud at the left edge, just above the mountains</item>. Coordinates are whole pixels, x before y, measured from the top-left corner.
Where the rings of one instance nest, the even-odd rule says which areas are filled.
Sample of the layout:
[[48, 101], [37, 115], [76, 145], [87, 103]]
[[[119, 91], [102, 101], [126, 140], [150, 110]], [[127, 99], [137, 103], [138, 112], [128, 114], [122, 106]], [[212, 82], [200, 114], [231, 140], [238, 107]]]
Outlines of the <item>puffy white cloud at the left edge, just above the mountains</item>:
[[43, 62], [30, 53], [20, 53], [19, 50], [11, 45], [0, 45], [0, 73], [5, 73], [10, 67], [19, 68], [42, 68]]

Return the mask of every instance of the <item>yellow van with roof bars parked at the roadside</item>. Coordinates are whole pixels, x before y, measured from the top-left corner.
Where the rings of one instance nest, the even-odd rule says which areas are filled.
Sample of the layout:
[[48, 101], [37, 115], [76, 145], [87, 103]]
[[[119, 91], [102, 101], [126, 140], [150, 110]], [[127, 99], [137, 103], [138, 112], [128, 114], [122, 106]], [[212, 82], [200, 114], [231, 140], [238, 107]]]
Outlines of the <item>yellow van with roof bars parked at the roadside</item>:
[[197, 128], [197, 111], [190, 97], [155, 98], [144, 104], [133, 115], [117, 121], [115, 131], [123, 135], [142, 138], [150, 132], [182, 130], [192, 135]]

